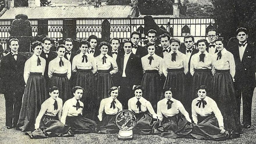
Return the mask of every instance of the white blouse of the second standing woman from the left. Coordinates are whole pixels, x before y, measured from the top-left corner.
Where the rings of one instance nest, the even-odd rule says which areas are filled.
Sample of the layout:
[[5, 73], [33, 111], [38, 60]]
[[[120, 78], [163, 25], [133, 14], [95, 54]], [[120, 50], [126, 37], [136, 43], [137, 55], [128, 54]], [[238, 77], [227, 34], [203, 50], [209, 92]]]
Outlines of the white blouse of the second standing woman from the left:
[[[60, 60], [63, 61], [64, 65], [60, 67]], [[49, 62], [49, 68], [48, 68], [48, 76], [51, 78], [53, 76], [53, 73], [57, 74], [65, 74], [67, 73], [67, 78], [70, 79], [71, 77], [71, 63], [67, 59], [56, 57], [53, 60]]]

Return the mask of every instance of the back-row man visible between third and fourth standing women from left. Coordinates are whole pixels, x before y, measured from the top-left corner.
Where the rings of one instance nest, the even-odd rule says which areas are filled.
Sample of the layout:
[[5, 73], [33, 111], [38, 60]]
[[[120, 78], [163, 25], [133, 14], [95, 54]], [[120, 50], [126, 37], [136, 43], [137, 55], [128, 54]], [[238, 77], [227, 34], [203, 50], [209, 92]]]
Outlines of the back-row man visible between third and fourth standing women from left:
[[88, 40], [90, 43], [90, 47], [88, 48], [88, 54], [91, 56], [99, 56], [100, 55], [100, 50], [97, 49], [97, 43], [98, 43], [98, 38], [96, 35], [90, 35]]

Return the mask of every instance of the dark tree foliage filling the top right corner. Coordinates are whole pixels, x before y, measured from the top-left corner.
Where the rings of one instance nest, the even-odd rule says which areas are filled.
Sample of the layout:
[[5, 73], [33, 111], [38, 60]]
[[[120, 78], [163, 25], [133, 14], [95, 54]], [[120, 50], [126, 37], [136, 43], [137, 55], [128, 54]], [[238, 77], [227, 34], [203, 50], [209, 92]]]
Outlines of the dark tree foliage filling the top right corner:
[[236, 29], [245, 27], [249, 40], [256, 38], [256, 1], [252, 0], [212, 0], [214, 19], [221, 36], [228, 39], [236, 36]]

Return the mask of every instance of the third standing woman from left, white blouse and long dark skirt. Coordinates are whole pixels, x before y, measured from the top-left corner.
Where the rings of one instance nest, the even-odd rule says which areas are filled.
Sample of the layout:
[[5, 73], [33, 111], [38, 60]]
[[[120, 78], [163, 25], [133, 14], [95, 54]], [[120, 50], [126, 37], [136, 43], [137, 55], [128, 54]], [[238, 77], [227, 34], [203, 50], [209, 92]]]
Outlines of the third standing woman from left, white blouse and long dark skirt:
[[[97, 72], [97, 65], [95, 58], [88, 54], [88, 41], [83, 40], [79, 42], [80, 53], [73, 58], [72, 72], [76, 72], [76, 86], [81, 86], [86, 91], [81, 98], [81, 102], [88, 103], [83, 109], [83, 115], [86, 115], [92, 120], [97, 120], [95, 113], [95, 106], [98, 106], [97, 99], [95, 99], [95, 81], [94, 74]], [[97, 108], [96, 108], [97, 109]]]

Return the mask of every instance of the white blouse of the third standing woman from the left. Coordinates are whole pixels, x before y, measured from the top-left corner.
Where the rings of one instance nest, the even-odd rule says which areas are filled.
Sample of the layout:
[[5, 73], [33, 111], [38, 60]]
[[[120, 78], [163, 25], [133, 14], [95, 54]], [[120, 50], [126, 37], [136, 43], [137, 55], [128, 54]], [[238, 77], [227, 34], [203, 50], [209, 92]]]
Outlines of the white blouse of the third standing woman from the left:
[[95, 61], [95, 58], [91, 55], [89, 55], [88, 53], [85, 54], [87, 56], [87, 63], [84, 61], [82, 63], [83, 60], [83, 53], [81, 52], [80, 54], [74, 56], [73, 61], [72, 61], [72, 71], [76, 72], [77, 69], [82, 69], [82, 70], [92, 70], [92, 73], [95, 74], [97, 72], [97, 64]]

